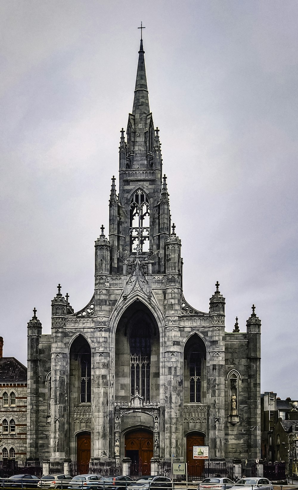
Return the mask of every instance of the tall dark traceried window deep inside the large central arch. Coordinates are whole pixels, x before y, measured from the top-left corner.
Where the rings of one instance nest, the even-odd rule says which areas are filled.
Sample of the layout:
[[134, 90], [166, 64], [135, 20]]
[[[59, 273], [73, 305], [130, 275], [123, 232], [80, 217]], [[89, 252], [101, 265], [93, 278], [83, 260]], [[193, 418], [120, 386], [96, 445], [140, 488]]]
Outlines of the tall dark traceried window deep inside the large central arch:
[[135, 324], [130, 335], [131, 395], [150, 401], [151, 334], [146, 323]]

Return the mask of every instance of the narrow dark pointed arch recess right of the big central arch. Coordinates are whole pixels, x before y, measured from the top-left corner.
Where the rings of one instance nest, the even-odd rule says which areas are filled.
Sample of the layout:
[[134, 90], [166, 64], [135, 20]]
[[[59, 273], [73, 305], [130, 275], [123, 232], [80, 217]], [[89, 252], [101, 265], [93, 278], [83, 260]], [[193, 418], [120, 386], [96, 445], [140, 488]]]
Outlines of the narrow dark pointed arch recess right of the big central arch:
[[184, 344], [183, 398], [184, 403], [206, 403], [206, 344], [197, 333]]

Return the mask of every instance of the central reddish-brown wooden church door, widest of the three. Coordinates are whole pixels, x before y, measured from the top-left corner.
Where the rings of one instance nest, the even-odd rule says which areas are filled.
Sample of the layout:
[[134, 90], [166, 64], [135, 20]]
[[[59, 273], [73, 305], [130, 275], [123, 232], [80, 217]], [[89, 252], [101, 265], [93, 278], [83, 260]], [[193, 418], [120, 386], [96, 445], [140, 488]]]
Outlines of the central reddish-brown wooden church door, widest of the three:
[[125, 456], [132, 460], [133, 471], [137, 474], [151, 474], [153, 458], [153, 432], [138, 429], [128, 432], [124, 440]]

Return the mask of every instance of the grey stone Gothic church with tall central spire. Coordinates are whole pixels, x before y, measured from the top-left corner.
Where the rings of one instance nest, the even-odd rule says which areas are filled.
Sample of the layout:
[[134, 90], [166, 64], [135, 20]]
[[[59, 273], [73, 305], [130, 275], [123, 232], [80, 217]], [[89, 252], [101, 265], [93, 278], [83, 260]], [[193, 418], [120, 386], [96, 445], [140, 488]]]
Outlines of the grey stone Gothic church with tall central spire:
[[35, 312], [28, 322], [27, 458], [83, 468], [129, 457], [150, 474], [152, 458], [190, 468], [193, 445], [208, 445], [211, 459], [250, 466], [260, 456], [260, 320], [253, 307], [246, 332], [237, 321], [226, 332], [218, 283], [208, 312], [183, 296], [142, 41], [118, 195], [115, 180], [91, 301], [74, 312], [59, 285], [51, 334]]

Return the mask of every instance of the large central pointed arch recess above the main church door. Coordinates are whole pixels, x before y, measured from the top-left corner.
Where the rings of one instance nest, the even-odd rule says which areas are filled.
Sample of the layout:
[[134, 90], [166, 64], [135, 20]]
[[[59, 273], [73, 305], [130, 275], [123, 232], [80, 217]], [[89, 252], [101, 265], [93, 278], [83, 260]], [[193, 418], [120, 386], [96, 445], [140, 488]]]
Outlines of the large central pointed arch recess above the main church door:
[[160, 332], [148, 307], [134, 301], [115, 331], [115, 401], [148, 404], [159, 400]]

